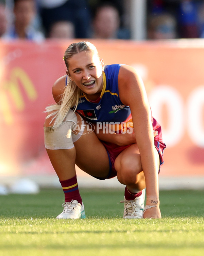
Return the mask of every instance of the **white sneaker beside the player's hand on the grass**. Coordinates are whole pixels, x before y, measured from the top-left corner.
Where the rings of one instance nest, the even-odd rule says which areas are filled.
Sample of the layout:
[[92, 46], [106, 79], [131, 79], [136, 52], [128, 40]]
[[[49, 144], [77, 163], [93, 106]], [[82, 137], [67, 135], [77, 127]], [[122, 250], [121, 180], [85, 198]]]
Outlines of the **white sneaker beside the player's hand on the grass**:
[[142, 194], [135, 198], [135, 200], [120, 201], [124, 203], [123, 219], [141, 219], [143, 210], [145, 208], [145, 189], [142, 190]]

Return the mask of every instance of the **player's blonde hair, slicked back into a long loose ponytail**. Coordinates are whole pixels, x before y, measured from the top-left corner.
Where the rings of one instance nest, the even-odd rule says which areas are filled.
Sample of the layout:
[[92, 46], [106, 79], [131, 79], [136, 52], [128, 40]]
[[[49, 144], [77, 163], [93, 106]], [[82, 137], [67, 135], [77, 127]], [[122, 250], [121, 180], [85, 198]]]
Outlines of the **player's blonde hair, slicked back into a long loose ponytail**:
[[[65, 51], [64, 61], [69, 72], [69, 59], [81, 51], [92, 51], [98, 55], [96, 46], [90, 42], [82, 41], [79, 43], [71, 44]], [[99, 55], [98, 55], [99, 57]], [[54, 121], [53, 128], [60, 126], [65, 119], [70, 108], [73, 111], [77, 109], [78, 102], [82, 96], [82, 91], [79, 87], [67, 77], [67, 86], [62, 94], [62, 100], [59, 104], [53, 104], [46, 107], [46, 112], [50, 113], [46, 118], [52, 117], [51, 122]], [[50, 122], [50, 123], [51, 123]]]

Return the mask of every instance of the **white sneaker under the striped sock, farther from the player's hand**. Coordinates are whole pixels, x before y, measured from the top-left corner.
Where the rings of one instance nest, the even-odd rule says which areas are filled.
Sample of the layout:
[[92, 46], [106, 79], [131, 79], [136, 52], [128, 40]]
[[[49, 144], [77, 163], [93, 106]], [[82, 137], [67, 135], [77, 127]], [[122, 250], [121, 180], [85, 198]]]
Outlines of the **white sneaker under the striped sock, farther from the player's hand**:
[[56, 219], [84, 219], [86, 217], [83, 203], [81, 205], [77, 200], [65, 202], [62, 206], [64, 210]]

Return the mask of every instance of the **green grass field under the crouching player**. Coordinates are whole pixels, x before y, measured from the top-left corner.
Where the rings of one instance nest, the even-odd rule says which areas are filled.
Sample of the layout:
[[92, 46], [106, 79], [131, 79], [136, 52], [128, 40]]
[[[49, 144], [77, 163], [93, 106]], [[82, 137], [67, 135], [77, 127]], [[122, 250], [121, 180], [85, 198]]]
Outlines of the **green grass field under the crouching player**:
[[122, 190], [81, 189], [86, 219], [56, 220], [60, 189], [0, 196], [0, 256], [203, 256], [204, 191], [160, 191], [162, 219], [123, 220]]

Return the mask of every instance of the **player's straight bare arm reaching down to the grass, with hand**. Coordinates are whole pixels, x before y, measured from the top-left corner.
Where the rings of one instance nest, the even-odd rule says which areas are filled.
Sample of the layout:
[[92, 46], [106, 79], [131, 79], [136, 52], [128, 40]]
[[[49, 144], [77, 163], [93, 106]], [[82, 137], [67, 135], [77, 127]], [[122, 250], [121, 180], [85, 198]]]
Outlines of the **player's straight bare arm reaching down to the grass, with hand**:
[[[147, 198], [158, 198], [159, 166], [155, 157], [151, 110], [143, 82], [133, 67], [124, 65], [119, 71], [118, 84], [122, 103], [129, 105], [131, 109], [135, 138], [145, 175]], [[149, 217], [148, 212], [153, 217], [160, 217], [159, 207], [147, 210], [146, 217]]]

